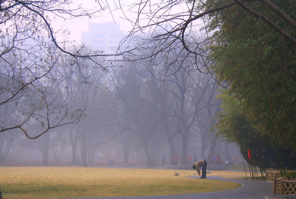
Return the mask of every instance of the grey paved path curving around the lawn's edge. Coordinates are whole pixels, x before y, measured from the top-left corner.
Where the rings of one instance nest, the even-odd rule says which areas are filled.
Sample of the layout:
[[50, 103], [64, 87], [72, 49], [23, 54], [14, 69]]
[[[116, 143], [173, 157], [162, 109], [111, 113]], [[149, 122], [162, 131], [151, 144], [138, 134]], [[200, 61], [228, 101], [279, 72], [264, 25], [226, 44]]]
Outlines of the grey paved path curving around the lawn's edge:
[[[197, 176], [190, 176], [198, 178]], [[272, 194], [272, 182], [260, 180], [246, 180], [235, 178], [221, 178], [218, 176], [207, 176], [207, 179], [224, 180], [242, 184], [237, 189], [191, 193], [179, 195], [156, 195], [156, 196], [124, 196], [124, 197], [95, 197], [95, 198], [67, 198], [67, 199], [264, 199], [265, 196]]]

